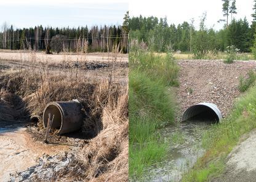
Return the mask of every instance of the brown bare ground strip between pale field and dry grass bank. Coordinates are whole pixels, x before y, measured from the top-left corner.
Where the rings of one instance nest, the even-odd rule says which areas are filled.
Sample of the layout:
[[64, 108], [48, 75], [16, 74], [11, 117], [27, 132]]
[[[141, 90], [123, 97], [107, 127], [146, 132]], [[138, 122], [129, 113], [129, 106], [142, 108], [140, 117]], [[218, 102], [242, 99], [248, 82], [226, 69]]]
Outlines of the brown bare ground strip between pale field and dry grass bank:
[[82, 61], [66, 63], [41, 63], [31, 61], [15, 61], [0, 59], [0, 73], [10, 71], [21, 71], [31, 69], [41, 73], [48, 71], [51, 74], [82, 74], [89, 79], [107, 79], [110, 74], [113, 79], [127, 82], [128, 81], [128, 63], [104, 62], [104, 61]]

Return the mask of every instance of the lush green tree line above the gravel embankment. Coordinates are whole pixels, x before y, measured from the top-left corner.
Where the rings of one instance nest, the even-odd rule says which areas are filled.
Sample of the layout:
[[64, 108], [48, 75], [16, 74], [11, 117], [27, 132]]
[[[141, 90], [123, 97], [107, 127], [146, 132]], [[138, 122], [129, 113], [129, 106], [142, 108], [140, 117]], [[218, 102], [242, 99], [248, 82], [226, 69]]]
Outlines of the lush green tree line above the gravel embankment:
[[[250, 52], [255, 42], [256, 28], [256, 0], [254, 0], [254, 18], [249, 23], [246, 18], [236, 20], [236, 1], [223, 1], [223, 17], [225, 25], [221, 30], [207, 28], [205, 25], [207, 15], [202, 15], [199, 30], [194, 28], [194, 20], [183, 22], [177, 26], [168, 25], [167, 18], [132, 17], [129, 18], [129, 39], [143, 41], [156, 52], [167, 50], [181, 50], [183, 52], [198, 52], [203, 50], [224, 51], [229, 45], [234, 45], [241, 52]], [[231, 18], [228, 18], [230, 17]]]

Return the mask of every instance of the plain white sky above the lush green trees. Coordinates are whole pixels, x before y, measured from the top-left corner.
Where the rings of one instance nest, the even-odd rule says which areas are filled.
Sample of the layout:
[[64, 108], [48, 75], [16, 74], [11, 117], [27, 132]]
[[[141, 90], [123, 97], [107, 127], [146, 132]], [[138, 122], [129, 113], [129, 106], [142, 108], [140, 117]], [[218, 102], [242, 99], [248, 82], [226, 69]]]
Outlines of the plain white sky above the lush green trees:
[[[252, 6], [254, 0], [236, 0], [237, 15], [235, 18], [244, 18], [252, 22], [251, 14], [253, 12]], [[214, 26], [215, 29], [223, 27], [223, 23], [217, 23], [218, 20], [223, 19], [222, 16], [222, 0], [130, 0], [129, 14], [132, 16], [156, 16], [167, 17], [168, 23], [182, 23], [184, 21], [190, 22], [194, 18], [196, 28], [198, 28], [199, 20], [203, 12], [207, 12], [206, 25], [208, 28]], [[224, 18], [225, 19], [225, 18]]]

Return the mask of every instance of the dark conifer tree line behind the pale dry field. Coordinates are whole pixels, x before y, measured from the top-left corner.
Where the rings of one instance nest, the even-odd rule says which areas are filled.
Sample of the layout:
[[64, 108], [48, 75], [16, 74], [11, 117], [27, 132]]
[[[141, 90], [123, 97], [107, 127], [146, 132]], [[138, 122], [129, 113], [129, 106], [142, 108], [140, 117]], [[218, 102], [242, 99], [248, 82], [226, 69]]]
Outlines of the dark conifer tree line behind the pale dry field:
[[[128, 31], [124, 26], [79, 26], [78, 28], [52, 28], [35, 26], [34, 28], [16, 28], [7, 23], [0, 32], [0, 49], [33, 49], [60, 52], [76, 52], [87, 45], [88, 52], [128, 51]], [[58, 47], [57, 47], [58, 46]], [[116, 51], [116, 50], [115, 50]]]

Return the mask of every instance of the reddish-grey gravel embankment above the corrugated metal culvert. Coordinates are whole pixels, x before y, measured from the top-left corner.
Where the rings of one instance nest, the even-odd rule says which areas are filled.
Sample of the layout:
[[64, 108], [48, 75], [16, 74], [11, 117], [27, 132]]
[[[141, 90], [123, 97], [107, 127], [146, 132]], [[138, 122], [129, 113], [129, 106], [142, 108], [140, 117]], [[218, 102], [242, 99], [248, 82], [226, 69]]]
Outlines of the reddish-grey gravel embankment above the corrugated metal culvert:
[[256, 61], [235, 61], [232, 64], [221, 60], [179, 60], [180, 66], [178, 103], [179, 116], [189, 106], [210, 102], [218, 106], [225, 117], [233, 107], [235, 98], [241, 94], [239, 77], [256, 69]]

